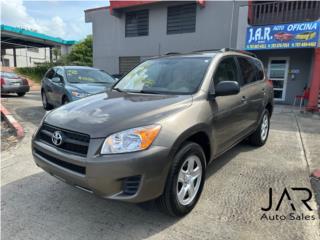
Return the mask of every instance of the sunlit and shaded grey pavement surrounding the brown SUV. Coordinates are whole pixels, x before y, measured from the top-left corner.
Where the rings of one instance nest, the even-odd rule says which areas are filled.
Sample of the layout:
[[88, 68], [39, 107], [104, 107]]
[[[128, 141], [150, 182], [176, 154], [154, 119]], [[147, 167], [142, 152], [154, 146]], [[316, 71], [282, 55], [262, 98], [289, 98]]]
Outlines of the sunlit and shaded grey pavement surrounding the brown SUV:
[[[320, 239], [314, 192], [309, 210], [301, 201], [308, 192], [292, 190], [312, 190], [310, 172], [320, 167], [318, 117], [277, 107], [267, 144], [241, 143], [216, 159], [197, 206], [179, 219], [152, 204], [97, 198], [48, 175], [34, 164], [30, 147], [45, 113], [39, 92], [6, 97], [2, 104], [26, 131], [2, 152], [2, 239]], [[263, 211], [269, 188], [273, 206]], [[285, 194], [276, 211], [285, 188], [291, 200]]]

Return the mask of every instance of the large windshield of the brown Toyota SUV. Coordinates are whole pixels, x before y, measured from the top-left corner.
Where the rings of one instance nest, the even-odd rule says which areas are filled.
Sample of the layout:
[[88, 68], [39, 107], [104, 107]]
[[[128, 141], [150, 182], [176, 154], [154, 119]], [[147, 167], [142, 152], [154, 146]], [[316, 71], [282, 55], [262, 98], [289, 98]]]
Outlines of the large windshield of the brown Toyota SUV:
[[114, 87], [141, 93], [192, 94], [202, 82], [212, 57], [148, 60], [134, 68]]

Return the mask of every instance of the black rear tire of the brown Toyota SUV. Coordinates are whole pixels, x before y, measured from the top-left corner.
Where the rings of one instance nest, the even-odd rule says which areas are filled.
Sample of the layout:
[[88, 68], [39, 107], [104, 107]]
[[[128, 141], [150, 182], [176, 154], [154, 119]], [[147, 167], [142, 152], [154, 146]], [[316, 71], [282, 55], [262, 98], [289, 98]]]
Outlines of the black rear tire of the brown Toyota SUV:
[[[262, 134], [263, 124], [264, 124], [265, 118], [268, 123], [266, 133], [265, 133], [266, 135]], [[261, 117], [261, 120], [260, 120], [260, 123], [259, 123], [257, 130], [249, 136], [250, 144], [253, 146], [257, 146], [257, 147], [263, 146], [268, 140], [269, 129], [270, 129], [270, 114], [269, 114], [268, 109], [265, 109], [262, 114], [262, 117]]]

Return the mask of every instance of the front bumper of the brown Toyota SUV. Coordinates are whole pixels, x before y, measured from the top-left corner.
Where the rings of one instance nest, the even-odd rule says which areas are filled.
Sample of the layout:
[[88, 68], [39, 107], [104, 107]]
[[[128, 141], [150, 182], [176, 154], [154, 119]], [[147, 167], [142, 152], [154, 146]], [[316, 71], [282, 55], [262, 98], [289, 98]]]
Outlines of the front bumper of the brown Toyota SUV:
[[[90, 145], [99, 142], [92, 139]], [[162, 194], [170, 166], [169, 150], [160, 146], [135, 153], [80, 157], [33, 140], [32, 154], [39, 167], [68, 184], [103, 198], [134, 203]], [[70, 170], [65, 164], [51, 161], [53, 158], [85, 170], [82, 173]], [[125, 182], [137, 176], [140, 179], [137, 190], [127, 194]]]

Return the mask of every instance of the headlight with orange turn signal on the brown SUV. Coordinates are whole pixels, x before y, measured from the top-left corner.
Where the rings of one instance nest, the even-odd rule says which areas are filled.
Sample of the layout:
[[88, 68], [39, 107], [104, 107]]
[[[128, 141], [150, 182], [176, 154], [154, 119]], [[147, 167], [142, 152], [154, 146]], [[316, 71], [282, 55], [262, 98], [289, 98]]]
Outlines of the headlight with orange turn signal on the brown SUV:
[[104, 141], [101, 154], [127, 153], [147, 149], [158, 136], [160, 129], [160, 125], [149, 125], [112, 134]]

